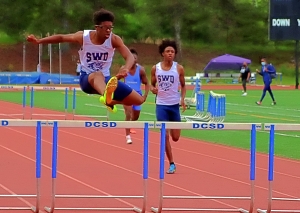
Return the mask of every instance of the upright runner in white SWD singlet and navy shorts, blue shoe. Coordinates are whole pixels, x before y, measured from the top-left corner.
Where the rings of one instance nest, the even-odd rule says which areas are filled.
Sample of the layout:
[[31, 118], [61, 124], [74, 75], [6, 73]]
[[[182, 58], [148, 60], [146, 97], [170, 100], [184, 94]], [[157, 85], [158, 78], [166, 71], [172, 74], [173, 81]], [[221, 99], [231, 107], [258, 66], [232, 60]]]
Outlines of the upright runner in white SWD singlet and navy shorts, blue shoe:
[[[180, 105], [185, 111], [185, 79], [183, 66], [174, 61], [177, 53], [175, 41], [163, 40], [159, 45], [159, 53], [163, 57], [162, 62], [157, 63], [151, 69], [151, 92], [156, 94], [156, 119], [157, 121], [180, 122]], [[181, 86], [181, 94], [178, 85]], [[169, 139], [171, 135], [173, 141], [180, 138], [180, 129], [167, 130], [166, 133], [166, 155], [170, 163], [168, 174], [176, 171], [173, 159], [172, 147]]]

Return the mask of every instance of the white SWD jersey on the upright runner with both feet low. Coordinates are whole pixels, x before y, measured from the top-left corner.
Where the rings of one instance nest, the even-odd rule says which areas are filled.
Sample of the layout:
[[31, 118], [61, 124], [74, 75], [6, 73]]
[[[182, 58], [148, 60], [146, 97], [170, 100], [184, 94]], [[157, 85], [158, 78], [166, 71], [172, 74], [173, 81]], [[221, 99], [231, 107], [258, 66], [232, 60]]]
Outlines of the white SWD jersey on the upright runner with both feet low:
[[179, 74], [177, 62], [173, 62], [170, 70], [163, 70], [161, 63], [156, 64], [156, 80], [158, 92], [156, 104], [158, 105], [175, 105], [180, 102], [180, 93], [178, 91]]

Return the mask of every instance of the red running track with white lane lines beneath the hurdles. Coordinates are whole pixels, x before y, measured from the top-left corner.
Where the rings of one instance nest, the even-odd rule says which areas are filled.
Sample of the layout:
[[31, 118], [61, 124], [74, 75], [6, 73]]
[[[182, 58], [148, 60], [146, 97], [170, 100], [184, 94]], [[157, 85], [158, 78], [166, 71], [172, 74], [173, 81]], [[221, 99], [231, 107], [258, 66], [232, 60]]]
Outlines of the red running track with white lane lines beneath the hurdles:
[[[21, 113], [21, 110], [20, 105], [0, 102], [1, 114], [16, 114]], [[36, 108], [35, 113], [59, 114], [59, 112]], [[43, 117], [43, 119], [57, 118]], [[58, 134], [57, 194], [142, 195], [142, 130], [137, 130], [137, 134], [132, 135], [132, 145], [126, 144], [122, 129], [62, 128], [59, 129]], [[0, 128], [0, 135], [0, 193], [34, 194], [35, 129], [3, 127]], [[42, 139], [41, 208], [43, 209], [51, 202], [51, 128], [43, 127]], [[245, 143], [250, 141], [249, 138], [242, 140]], [[259, 142], [258, 140], [257, 143]], [[248, 151], [181, 138], [179, 142], [173, 143], [173, 152], [177, 172], [165, 176], [165, 195], [250, 195]], [[167, 162], [165, 166], [168, 167]], [[258, 153], [255, 210], [267, 207], [267, 166], [268, 156]], [[300, 197], [299, 167], [299, 161], [275, 158], [273, 192], [275, 197]], [[151, 131], [147, 203], [149, 212], [150, 207], [158, 205], [158, 177], [159, 133]], [[0, 198], [1, 206], [34, 204], [34, 199]], [[300, 203], [295, 202], [273, 201], [273, 204], [274, 208], [300, 209]], [[56, 199], [56, 207], [141, 207], [141, 205], [141, 199]], [[248, 205], [247, 200], [164, 200], [164, 207], [248, 209]]]

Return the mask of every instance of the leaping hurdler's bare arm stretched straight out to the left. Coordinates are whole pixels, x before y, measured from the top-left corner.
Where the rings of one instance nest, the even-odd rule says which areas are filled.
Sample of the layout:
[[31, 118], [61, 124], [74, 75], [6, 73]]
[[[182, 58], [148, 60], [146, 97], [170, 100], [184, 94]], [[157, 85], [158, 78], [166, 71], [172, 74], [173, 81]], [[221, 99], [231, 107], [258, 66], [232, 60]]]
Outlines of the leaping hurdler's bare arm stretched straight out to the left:
[[78, 31], [73, 34], [57, 34], [44, 38], [36, 38], [34, 35], [27, 36], [27, 41], [35, 44], [57, 44], [57, 43], [79, 43], [82, 46], [83, 31]]

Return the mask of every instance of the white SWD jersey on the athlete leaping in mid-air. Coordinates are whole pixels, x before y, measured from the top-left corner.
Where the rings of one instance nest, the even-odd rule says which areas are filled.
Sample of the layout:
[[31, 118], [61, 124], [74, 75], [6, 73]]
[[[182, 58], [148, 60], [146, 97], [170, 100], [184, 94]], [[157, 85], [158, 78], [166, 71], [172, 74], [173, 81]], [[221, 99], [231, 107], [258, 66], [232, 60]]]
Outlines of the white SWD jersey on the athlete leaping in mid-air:
[[115, 52], [111, 43], [112, 33], [103, 44], [95, 45], [90, 39], [90, 32], [92, 31], [83, 31], [83, 44], [78, 51], [81, 70], [87, 74], [101, 71], [105, 77], [110, 76], [110, 67]]

